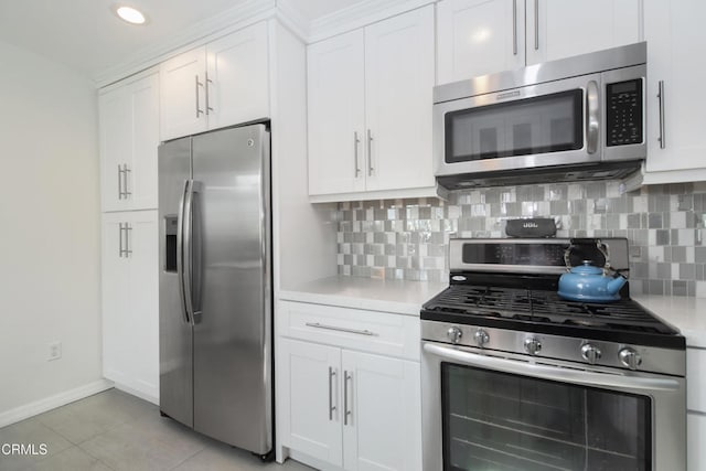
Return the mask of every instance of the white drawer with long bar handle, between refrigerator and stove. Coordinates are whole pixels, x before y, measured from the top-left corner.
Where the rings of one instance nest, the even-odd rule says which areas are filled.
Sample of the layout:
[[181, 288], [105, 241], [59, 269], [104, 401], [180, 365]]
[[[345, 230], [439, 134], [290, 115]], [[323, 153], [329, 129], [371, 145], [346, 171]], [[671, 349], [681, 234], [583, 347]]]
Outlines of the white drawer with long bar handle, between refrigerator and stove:
[[278, 308], [278, 335], [419, 361], [418, 318], [292, 301]]

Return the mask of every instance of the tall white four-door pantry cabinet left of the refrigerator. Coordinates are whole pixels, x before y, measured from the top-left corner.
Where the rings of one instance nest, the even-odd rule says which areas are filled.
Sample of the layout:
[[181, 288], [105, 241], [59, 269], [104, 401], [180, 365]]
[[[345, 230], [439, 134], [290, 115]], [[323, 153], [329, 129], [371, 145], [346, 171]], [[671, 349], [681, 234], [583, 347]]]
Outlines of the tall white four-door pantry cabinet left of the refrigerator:
[[159, 76], [122, 81], [98, 103], [103, 374], [157, 403]]

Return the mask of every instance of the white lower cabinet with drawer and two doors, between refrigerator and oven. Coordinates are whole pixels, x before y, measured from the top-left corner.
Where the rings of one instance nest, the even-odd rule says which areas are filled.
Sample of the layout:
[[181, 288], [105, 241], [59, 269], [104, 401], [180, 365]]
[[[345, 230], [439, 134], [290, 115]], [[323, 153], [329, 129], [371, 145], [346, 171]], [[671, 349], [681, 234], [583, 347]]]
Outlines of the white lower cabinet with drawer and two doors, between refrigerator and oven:
[[[319, 317], [306, 324], [312, 331], [321, 330], [322, 340], [329, 343], [278, 338], [276, 384], [281, 445], [292, 454], [297, 453], [297, 459], [307, 462], [307, 458], [311, 458], [313, 461], [309, 464], [322, 469], [421, 470], [418, 356], [407, 360], [357, 351], [351, 343], [359, 335], [361, 349], [374, 351], [375, 343], [370, 339], [381, 335], [365, 321], [353, 325], [356, 315], [373, 314], [394, 321], [410, 318], [408, 320], [416, 321], [417, 325], [419, 320], [306, 303], [280, 302], [279, 306], [282, 308], [278, 310], [280, 325], [291, 319], [292, 312], [307, 311], [310, 307], [312, 317]], [[332, 317], [327, 315], [327, 309], [332, 311]], [[353, 324], [342, 322], [346, 312]], [[408, 322], [400, 325], [404, 324]], [[405, 335], [404, 330], [402, 328], [400, 335], [411, 341], [411, 335]], [[285, 331], [298, 335], [297, 330]], [[336, 336], [345, 347], [335, 344], [332, 339]], [[414, 342], [418, 343], [418, 338]]]

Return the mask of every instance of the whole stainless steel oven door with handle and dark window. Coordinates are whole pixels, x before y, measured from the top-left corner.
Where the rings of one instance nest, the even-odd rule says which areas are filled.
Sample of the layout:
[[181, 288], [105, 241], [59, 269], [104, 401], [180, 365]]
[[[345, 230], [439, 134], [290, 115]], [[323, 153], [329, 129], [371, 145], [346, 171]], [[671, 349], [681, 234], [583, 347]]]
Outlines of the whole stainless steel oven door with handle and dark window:
[[425, 470], [686, 469], [684, 378], [480, 352], [422, 342]]

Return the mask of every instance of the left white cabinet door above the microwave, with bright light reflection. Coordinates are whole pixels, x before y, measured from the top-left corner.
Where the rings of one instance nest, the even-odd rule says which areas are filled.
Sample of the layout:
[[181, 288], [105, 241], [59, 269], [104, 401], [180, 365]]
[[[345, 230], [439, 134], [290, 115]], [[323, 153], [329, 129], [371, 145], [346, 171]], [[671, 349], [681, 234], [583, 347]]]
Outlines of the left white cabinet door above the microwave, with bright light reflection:
[[524, 0], [443, 0], [437, 24], [440, 84], [525, 65]]

